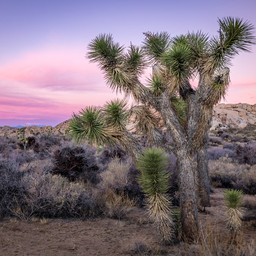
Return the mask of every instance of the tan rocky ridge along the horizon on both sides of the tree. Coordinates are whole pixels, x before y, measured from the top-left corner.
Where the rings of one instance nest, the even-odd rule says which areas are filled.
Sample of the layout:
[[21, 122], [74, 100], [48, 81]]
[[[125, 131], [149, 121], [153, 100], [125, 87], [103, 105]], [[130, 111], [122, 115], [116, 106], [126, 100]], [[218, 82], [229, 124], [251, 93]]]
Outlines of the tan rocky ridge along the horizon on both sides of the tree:
[[[68, 128], [68, 120], [55, 127], [52, 126], [27, 126], [25, 127], [25, 135], [27, 137], [35, 134], [65, 134]], [[256, 124], [256, 104], [250, 105], [246, 103], [238, 104], [219, 104], [213, 109], [212, 127], [210, 130], [227, 129], [227, 128], [244, 128], [247, 124]], [[128, 124], [128, 129], [132, 129], [132, 125]], [[19, 128], [10, 126], [0, 127], [0, 137], [19, 136]]]

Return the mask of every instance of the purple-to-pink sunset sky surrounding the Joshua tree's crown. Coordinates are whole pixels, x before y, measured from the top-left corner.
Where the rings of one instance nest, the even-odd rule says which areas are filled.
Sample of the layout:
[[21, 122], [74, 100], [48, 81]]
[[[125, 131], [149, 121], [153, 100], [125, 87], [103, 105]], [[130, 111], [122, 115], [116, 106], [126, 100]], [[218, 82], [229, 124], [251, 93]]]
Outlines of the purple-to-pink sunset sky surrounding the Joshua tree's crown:
[[[101, 33], [124, 46], [141, 45], [148, 31], [217, 35], [218, 18], [256, 26], [255, 11], [253, 0], [0, 0], [0, 126], [55, 126], [116, 98], [85, 57]], [[256, 104], [256, 46], [232, 63], [222, 102]]]

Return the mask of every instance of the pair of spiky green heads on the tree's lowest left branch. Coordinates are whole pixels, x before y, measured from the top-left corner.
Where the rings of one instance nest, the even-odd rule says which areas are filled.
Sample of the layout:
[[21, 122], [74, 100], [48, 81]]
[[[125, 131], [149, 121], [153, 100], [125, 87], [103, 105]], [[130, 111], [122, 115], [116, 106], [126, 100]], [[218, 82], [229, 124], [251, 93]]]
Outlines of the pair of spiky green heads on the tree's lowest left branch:
[[115, 99], [103, 108], [87, 107], [73, 113], [69, 122], [69, 132], [77, 143], [87, 140], [98, 145], [113, 145], [122, 135], [128, 117], [126, 102]]

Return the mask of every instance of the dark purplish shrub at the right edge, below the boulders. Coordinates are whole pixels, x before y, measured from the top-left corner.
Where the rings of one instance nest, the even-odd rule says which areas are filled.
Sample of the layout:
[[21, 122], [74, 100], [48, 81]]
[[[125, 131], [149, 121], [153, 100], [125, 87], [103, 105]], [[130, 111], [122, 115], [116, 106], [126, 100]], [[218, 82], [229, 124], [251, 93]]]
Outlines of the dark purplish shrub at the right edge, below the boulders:
[[247, 143], [244, 146], [236, 146], [236, 160], [239, 163], [256, 164], [256, 143]]

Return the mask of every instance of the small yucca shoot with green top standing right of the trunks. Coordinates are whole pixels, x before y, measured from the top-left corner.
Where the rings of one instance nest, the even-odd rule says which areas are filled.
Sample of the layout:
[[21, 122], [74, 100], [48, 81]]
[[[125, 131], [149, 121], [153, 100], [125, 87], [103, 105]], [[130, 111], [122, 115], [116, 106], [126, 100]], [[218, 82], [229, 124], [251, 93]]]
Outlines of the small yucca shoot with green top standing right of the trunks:
[[230, 189], [225, 190], [224, 198], [226, 204], [227, 227], [230, 228], [232, 234], [236, 234], [242, 224], [243, 202], [242, 190]]

